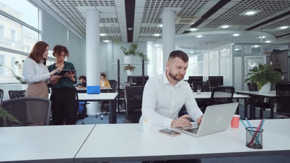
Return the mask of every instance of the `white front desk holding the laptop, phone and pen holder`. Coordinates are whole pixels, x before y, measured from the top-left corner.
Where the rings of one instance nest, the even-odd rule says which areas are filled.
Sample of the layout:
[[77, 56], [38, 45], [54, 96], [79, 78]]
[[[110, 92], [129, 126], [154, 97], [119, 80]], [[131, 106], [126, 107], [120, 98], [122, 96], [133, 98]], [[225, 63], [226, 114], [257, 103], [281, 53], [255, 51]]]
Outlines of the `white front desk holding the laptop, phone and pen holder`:
[[[260, 120], [250, 122], [258, 126]], [[285, 130], [289, 123], [290, 119], [266, 120], [263, 149], [260, 150], [246, 147], [246, 130], [242, 124], [238, 129], [201, 137], [187, 134], [168, 136], [159, 133], [163, 127], [158, 126], [154, 126], [154, 134], [143, 135], [140, 124], [97, 124], [74, 161], [92, 163], [289, 154], [290, 130]]]

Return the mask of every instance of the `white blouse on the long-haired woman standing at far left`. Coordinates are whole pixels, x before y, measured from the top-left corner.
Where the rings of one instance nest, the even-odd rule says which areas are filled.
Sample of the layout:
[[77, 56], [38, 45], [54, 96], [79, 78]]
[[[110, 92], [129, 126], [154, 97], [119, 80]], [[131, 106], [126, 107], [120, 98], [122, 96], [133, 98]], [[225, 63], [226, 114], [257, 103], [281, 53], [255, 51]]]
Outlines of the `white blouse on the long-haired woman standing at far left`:
[[40, 62], [36, 63], [33, 59], [27, 58], [23, 63], [23, 78], [29, 83], [45, 81], [50, 83], [50, 75], [46, 66]]

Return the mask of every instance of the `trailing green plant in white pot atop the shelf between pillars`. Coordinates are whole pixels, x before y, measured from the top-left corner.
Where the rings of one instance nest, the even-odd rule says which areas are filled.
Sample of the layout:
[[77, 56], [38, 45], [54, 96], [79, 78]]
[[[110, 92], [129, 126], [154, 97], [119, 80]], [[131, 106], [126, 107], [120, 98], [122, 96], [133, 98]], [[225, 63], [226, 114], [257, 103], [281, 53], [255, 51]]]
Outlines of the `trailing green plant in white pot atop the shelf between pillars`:
[[132, 58], [130, 55], [134, 55], [134, 56], [139, 56], [141, 59], [144, 59], [144, 61], [149, 61], [149, 59], [147, 58], [147, 56], [137, 50], [138, 49], [138, 45], [136, 43], [132, 43], [127, 51], [127, 49], [123, 46], [120, 47], [120, 49], [123, 51], [124, 55], [124, 63], [131, 63], [132, 62]]

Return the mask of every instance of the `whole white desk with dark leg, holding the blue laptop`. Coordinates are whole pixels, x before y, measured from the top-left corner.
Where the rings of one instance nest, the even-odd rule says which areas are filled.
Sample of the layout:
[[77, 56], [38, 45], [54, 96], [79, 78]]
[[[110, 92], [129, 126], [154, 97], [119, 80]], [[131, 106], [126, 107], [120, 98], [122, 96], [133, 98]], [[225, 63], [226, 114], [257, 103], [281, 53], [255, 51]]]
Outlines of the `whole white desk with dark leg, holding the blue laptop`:
[[[49, 94], [49, 98], [50, 98]], [[108, 101], [109, 102], [109, 123], [116, 123], [116, 97], [118, 93], [100, 93], [100, 94], [87, 94], [87, 93], [78, 93], [79, 101], [88, 102], [88, 101]]]

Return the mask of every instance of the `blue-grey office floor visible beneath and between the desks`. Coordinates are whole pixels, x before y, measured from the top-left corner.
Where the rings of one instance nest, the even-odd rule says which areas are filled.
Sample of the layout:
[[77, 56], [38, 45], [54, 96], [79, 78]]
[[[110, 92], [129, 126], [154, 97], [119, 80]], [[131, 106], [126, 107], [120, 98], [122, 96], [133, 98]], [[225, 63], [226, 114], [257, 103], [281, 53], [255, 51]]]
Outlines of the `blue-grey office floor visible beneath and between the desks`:
[[[240, 105], [240, 115], [243, 117], [244, 106]], [[256, 109], [256, 114], [259, 115], [259, 109]], [[265, 110], [264, 115], [270, 116], [270, 111]], [[109, 116], [105, 116], [103, 120], [101, 116], [88, 116], [84, 122], [85, 124], [107, 124], [109, 123]], [[275, 116], [276, 117], [276, 116]], [[123, 123], [126, 119], [126, 114], [117, 114], [117, 123]], [[80, 122], [78, 124], [81, 124]], [[275, 140], [274, 140], [275, 141]], [[110, 162], [110, 163], [142, 163], [140, 162]], [[290, 163], [290, 155], [270, 155], [270, 156], [251, 156], [251, 157], [231, 157], [231, 158], [211, 158], [202, 159], [202, 163]]]

